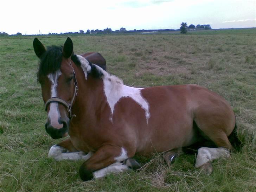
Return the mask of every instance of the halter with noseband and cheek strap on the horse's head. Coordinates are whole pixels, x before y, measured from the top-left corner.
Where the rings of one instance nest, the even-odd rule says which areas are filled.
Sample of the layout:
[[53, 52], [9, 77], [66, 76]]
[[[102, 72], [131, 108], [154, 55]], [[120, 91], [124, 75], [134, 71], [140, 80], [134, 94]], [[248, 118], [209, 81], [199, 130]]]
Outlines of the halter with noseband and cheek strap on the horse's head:
[[71, 99], [71, 101], [69, 103], [67, 103], [66, 101], [64, 101], [63, 99], [59, 98], [59, 97], [51, 97], [49, 100], [46, 101], [45, 103], [45, 110], [47, 111], [47, 108], [48, 108], [48, 105], [50, 103], [53, 103], [53, 102], [56, 102], [56, 103], [60, 103], [62, 105], [64, 105], [64, 107], [66, 108], [66, 110], [68, 111], [69, 113], [69, 119], [71, 120], [71, 118], [73, 116], [76, 116], [76, 115], [72, 115], [72, 111], [71, 111], [71, 108], [72, 108], [72, 105], [73, 105], [73, 102], [77, 96], [77, 91], [78, 91], [78, 84], [77, 84], [77, 80], [76, 80], [76, 73], [73, 69], [73, 77], [74, 77], [74, 94], [73, 94], [73, 97]]

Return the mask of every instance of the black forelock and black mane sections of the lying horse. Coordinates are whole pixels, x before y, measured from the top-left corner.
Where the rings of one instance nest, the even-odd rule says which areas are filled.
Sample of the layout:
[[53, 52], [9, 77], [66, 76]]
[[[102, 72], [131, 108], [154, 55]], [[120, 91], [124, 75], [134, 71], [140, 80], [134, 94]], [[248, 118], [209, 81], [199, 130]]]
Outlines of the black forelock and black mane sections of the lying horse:
[[[53, 73], [58, 69], [60, 69], [60, 65], [62, 62], [62, 49], [63, 49], [62, 46], [55, 46], [55, 45], [47, 47], [46, 52], [40, 57], [37, 76], [40, 76], [40, 75], [45, 76], [45, 75], [48, 75], [49, 73]], [[76, 65], [78, 66], [81, 65], [78, 57], [75, 54], [71, 56], [71, 60]], [[91, 66], [91, 71], [90, 73], [88, 73], [88, 75], [92, 75], [92, 77], [94, 78], [102, 77], [103, 75], [102, 72], [97, 69], [95, 64], [92, 64], [89, 60], [88, 62]]]

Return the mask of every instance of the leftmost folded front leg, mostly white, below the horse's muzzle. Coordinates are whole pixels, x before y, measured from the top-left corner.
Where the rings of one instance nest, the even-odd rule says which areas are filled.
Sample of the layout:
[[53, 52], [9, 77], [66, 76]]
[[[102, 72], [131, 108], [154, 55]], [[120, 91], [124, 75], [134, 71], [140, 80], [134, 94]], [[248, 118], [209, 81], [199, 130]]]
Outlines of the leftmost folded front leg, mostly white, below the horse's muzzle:
[[92, 155], [92, 152], [85, 154], [82, 151], [77, 151], [73, 146], [70, 139], [66, 139], [57, 145], [53, 145], [48, 153], [49, 158], [53, 158], [56, 161], [61, 160], [87, 160]]

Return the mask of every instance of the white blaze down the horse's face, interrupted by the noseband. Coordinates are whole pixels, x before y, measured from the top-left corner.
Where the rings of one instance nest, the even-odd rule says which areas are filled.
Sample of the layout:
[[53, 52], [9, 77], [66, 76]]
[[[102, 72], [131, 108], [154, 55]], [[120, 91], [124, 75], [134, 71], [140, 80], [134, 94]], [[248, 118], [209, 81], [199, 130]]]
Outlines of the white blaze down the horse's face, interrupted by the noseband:
[[[47, 75], [51, 82], [51, 97], [57, 97], [57, 85], [58, 85], [58, 78], [61, 75], [60, 70], [50, 73]], [[50, 125], [56, 129], [60, 129], [63, 127], [63, 124], [59, 124], [59, 108], [58, 108], [58, 103], [53, 102], [50, 103], [50, 110], [48, 113], [48, 119], [50, 121]]]

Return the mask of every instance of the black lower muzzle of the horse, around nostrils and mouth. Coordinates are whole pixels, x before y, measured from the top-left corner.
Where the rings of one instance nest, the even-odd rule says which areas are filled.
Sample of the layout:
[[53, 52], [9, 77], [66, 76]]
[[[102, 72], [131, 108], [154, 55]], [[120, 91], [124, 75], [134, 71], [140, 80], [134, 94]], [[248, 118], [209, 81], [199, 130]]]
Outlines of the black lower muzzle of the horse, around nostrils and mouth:
[[63, 124], [63, 127], [59, 128], [59, 129], [51, 126], [51, 124], [48, 120], [45, 123], [45, 130], [52, 137], [52, 139], [59, 139], [59, 138], [67, 136], [67, 133], [69, 130], [69, 120], [65, 121], [63, 119], [59, 119], [59, 123]]

